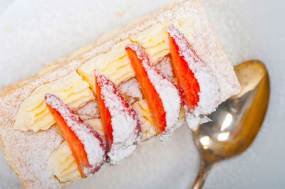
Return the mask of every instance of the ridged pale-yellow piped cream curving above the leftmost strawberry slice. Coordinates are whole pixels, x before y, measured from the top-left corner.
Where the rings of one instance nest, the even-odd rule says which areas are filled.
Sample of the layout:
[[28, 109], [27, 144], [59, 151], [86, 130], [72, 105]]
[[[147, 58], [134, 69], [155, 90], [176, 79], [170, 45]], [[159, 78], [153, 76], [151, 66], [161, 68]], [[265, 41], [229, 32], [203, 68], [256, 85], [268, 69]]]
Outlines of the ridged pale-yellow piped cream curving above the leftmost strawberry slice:
[[83, 107], [86, 102], [94, 99], [88, 83], [83, 81], [76, 71], [71, 72], [60, 80], [41, 85], [32, 92], [21, 104], [14, 129], [46, 130], [55, 123], [44, 101], [44, 95], [48, 92], [58, 96], [71, 109]]

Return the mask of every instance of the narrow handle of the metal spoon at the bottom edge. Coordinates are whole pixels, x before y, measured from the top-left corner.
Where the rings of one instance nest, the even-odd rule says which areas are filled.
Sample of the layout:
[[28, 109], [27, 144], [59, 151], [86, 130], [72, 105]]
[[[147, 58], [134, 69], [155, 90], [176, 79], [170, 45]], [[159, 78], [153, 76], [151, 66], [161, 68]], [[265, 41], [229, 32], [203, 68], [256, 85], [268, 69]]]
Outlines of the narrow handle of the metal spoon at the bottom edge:
[[213, 163], [208, 163], [206, 161], [201, 161], [199, 173], [197, 178], [192, 185], [192, 189], [200, 189], [204, 185], [204, 181], [206, 180], [207, 176], [209, 175], [209, 171], [211, 171]]

